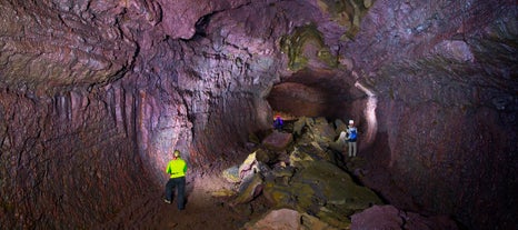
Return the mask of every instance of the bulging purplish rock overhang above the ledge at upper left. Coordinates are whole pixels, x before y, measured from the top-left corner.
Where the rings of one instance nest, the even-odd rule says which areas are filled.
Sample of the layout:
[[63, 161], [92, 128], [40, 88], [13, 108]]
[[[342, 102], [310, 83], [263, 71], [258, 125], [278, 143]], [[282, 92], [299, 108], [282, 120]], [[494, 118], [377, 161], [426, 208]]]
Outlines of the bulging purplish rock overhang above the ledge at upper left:
[[[2, 88], [58, 92], [120, 78], [137, 46], [117, 2], [2, 1]], [[44, 84], [46, 87], [41, 87]]]

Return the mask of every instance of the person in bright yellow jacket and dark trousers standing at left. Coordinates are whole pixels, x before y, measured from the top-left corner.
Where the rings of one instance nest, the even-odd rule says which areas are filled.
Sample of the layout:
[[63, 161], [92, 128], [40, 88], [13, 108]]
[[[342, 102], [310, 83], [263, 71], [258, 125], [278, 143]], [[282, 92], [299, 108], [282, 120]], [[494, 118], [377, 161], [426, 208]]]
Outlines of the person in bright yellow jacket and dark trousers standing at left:
[[171, 177], [166, 183], [166, 199], [163, 201], [166, 201], [166, 203], [171, 203], [173, 190], [177, 188], [177, 207], [179, 210], [183, 210], [186, 208], [187, 163], [181, 159], [180, 151], [175, 150], [172, 160], [167, 164], [166, 172]]

